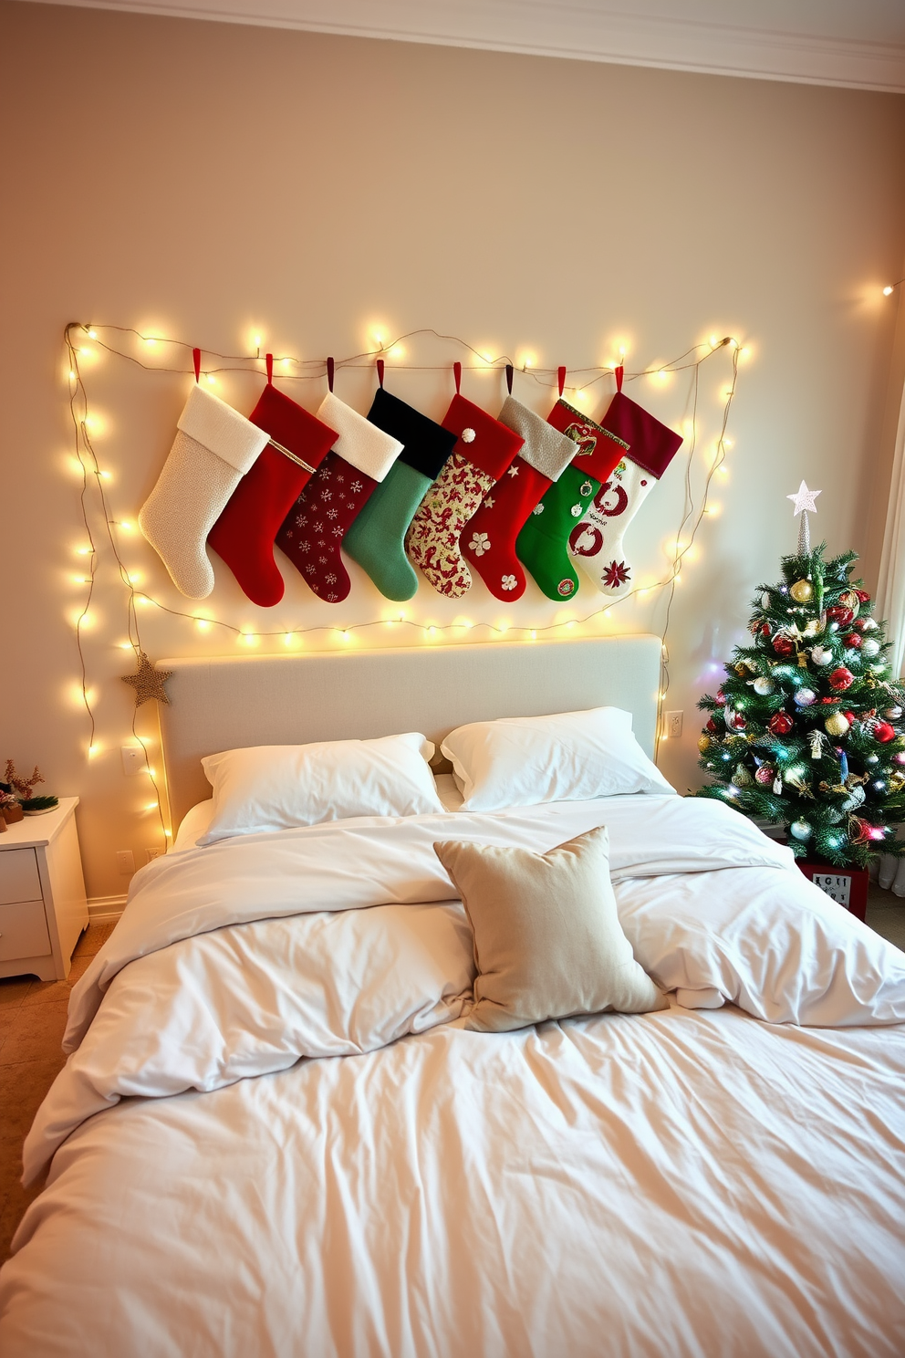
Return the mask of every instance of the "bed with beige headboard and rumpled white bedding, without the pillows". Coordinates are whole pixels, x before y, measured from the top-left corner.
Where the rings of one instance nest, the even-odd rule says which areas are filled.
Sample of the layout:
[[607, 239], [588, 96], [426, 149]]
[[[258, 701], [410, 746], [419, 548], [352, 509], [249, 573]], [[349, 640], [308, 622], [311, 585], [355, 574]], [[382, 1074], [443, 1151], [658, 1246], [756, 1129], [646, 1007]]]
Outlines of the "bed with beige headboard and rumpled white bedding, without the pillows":
[[[653, 637], [167, 661], [182, 830], [73, 990], [7, 1358], [905, 1353], [905, 957], [669, 789], [210, 834], [199, 759], [615, 706]], [[479, 1032], [440, 839], [606, 826], [666, 997]]]

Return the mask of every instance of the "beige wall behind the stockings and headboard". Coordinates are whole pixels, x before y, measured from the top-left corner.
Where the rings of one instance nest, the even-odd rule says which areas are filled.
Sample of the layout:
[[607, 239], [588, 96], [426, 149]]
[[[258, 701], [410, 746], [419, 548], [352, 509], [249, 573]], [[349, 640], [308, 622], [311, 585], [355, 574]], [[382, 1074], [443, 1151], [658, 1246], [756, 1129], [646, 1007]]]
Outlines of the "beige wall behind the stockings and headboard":
[[[900, 98], [90, 10], [3, 4], [0, 15], [0, 758], [38, 762], [53, 790], [83, 799], [91, 895], [123, 891], [114, 850], [142, 861], [159, 834], [141, 809], [144, 779], [125, 778], [119, 762], [132, 720], [117, 679], [129, 667], [117, 649], [126, 599], [109, 551], [87, 645], [100, 746], [91, 763], [73, 702], [68, 618], [83, 596], [72, 577], [84, 531], [61, 380], [69, 319], [153, 326], [227, 353], [247, 352], [259, 329], [266, 348], [304, 357], [355, 353], [376, 322], [433, 326], [570, 367], [606, 360], [619, 338], [628, 367], [646, 368], [711, 333], [739, 335], [752, 357], [722, 513], [704, 523], [670, 618], [668, 706], [685, 710], [685, 736], [661, 763], [680, 789], [697, 777], [693, 703], [707, 665], [729, 653], [754, 585], [794, 547], [784, 497], [802, 477], [824, 492], [817, 532], [834, 550], [870, 549], [875, 572], [868, 528], [885, 494], [875, 471], [897, 304], [879, 288], [905, 254]], [[410, 361], [457, 356], [450, 344], [407, 345]], [[109, 357], [87, 359], [84, 372], [104, 421], [114, 517], [134, 519], [187, 380]], [[701, 369], [696, 494], [726, 372], [725, 354]], [[545, 411], [547, 392], [517, 382]], [[248, 410], [258, 387], [233, 376], [218, 391]], [[338, 392], [365, 410], [372, 387], [357, 371]], [[450, 383], [407, 373], [392, 388], [441, 416]], [[313, 407], [323, 383], [286, 390]], [[669, 422], [687, 416], [684, 380], [630, 390]], [[495, 410], [501, 380], [475, 375], [465, 392]], [[682, 496], [680, 455], [632, 530], [647, 580], [668, 573]], [[149, 593], [194, 611], [144, 542], [123, 550]], [[357, 573], [332, 610], [290, 580], [274, 622], [221, 565], [217, 579], [206, 603], [236, 626], [345, 626], [389, 611]], [[559, 608], [532, 587], [506, 608], [476, 585], [452, 606], [425, 584], [410, 615], [545, 626], [600, 602], [585, 585]], [[217, 629], [199, 636], [156, 608], [141, 619], [152, 657], [235, 650]], [[654, 592], [605, 626], [663, 621]], [[393, 629], [358, 637], [403, 640]]]

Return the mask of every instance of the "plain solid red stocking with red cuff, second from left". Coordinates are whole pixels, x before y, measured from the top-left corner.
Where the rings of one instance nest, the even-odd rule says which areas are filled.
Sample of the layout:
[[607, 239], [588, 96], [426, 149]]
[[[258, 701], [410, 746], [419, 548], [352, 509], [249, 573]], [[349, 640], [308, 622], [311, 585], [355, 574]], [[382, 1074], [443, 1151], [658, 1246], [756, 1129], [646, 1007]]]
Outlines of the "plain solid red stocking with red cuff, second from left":
[[242, 478], [208, 542], [252, 603], [271, 608], [284, 595], [273, 546], [280, 524], [336, 441], [336, 433], [267, 383], [251, 422], [270, 441]]

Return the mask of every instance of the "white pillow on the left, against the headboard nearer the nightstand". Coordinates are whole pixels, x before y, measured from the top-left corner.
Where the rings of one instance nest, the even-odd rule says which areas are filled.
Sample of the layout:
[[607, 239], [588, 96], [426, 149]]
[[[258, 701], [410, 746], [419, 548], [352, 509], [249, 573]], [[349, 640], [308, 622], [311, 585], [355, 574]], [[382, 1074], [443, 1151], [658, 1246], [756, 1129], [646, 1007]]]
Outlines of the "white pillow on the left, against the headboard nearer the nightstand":
[[252, 746], [202, 759], [213, 818], [197, 841], [316, 826], [350, 816], [418, 816], [444, 807], [418, 732], [379, 740]]

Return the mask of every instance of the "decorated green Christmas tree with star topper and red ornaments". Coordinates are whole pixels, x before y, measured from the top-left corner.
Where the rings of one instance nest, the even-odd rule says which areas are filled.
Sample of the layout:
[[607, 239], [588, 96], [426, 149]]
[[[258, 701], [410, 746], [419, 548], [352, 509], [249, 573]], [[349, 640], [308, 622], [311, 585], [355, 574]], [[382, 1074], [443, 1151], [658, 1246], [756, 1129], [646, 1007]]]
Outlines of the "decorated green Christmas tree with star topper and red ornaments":
[[852, 580], [853, 551], [811, 551], [807, 511], [820, 490], [802, 481], [798, 553], [779, 584], [758, 585], [752, 641], [737, 646], [697, 741], [716, 797], [782, 823], [796, 857], [866, 868], [878, 851], [905, 853], [902, 686], [870, 595]]

